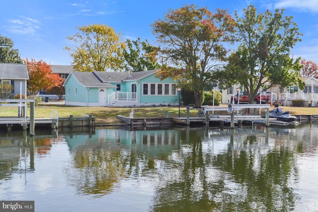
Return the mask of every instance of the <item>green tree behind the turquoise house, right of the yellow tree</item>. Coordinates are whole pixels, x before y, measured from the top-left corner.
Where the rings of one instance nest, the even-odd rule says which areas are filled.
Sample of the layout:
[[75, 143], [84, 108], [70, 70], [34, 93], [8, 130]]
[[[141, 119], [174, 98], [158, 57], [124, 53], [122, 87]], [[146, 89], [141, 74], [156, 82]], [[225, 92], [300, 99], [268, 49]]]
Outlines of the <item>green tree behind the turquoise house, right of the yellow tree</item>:
[[148, 40], [141, 42], [140, 38], [135, 41], [127, 39], [127, 49], [123, 50], [126, 71], [147, 71], [159, 69], [157, 55], [159, 47], [149, 44]]

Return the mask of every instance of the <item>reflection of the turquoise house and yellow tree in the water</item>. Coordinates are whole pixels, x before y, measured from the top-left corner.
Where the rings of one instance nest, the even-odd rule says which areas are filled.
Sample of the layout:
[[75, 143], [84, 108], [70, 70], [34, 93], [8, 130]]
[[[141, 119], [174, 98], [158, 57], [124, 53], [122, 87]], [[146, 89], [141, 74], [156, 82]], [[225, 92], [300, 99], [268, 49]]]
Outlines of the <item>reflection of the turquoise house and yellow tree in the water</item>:
[[99, 129], [95, 135], [66, 137], [73, 149], [75, 172], [68, 173], [83, 194], [109, 194], [125, 178], [147, 175], [156, 160], [179, 149], [179, 132]]

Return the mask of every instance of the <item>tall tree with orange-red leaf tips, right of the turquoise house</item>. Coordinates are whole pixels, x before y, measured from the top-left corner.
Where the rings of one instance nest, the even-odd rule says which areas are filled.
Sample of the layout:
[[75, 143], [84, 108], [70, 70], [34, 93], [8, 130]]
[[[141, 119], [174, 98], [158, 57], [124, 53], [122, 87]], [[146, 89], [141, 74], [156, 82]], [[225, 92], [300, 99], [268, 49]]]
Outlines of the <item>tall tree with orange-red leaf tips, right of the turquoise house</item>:
[[226, 58], [224, 44], [233, 41], [235, 21], [224, 9], [213, 14], [191, 4], [169, 10], [151, 26], [163, 44], [160, 52], [166, 65], [159, 73], [161, 78], [170, 76], [179, 80], [179, 86], [193, 90], [195, 105], [200, 107], [215, 66]]

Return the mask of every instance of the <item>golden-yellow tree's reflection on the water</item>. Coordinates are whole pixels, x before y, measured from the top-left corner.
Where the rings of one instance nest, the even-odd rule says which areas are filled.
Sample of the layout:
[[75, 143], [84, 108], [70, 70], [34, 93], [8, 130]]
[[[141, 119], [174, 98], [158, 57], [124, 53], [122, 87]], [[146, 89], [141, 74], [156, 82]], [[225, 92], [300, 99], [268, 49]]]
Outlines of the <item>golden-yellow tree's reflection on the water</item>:
[[120, 177], [126, 174], [125, 161], [120, 149], [109, 150], [107, 143], [80, 146], [74, 153], [74, 185], [83, 194], [97, 197], [112, 192]]

